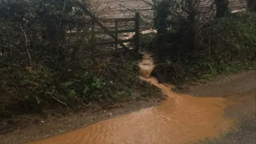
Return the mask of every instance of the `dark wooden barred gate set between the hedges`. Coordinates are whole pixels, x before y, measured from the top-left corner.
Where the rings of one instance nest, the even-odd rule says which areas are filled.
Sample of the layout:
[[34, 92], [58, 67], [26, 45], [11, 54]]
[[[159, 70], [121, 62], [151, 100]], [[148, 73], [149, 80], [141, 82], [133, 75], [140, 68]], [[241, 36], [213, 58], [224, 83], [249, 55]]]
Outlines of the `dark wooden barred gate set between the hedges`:
[[[95, 57], [105, 57], [105, 56], [111, 56], [114, 54], [119, 54], [119, 53], [124, 53], [127, 51], [130, 51], [126, 45], [123, 43], [127, 42], [134, 42], [135, 43], [135, 51], [139, 51], [139, 13], [135, 13], [134, 18], [97, 18], [96, 20], [84, 20], [84, 22], [90, 22], [91, 25], [91, 30], [90, 31], [78, 31], [78, 32], [70, 32], [66, 34], [66, 37], [78, 37], [78, 36], [91, 36], [91, 43], [87, 44], [76, 44], [76, 46], [80, 47], [83, 49], [83, 47], [90, 47], [91, 48], [91, 53], [90, 55], [85, 55], [87, 58], [95, 58]], [[132, 29], [122, 29], [118, 30], [118, 23], [119, 22], [130, 22], [130, 21], [135, 21], [134, 28]], [[104, 27], [103, 31], [97, 31], [95, 30], [95, 23], [107, 23], [107, 22], [114, 22], [115, 23], [115, 30], [108, 30], [106, 27]], [[102, 25], [103, 26], [103, 25]], [[102, 27], [101, 26], [101, 27]], [[107, 41], [107, 42], [95, 42], [95, 35], [111, 35], [113, 34], [115, 37], [115, 41]], [[135, 33], [133, 38], [130, 39], [118, 39], [118, 34], [120, 33]], [[111, 36], [110, 35], [110, 36]], [[115, 45], [115, 50], [114, 51], [107, 51], [104, 53], [95, 53], [94, 48], [95, 46], [103, 46], [103, 45]], [[121, 45], [123, 47], [123, 50], [118, 50], [118, 45]], [[74, 46], [74, 45], [73, 45]], [[114, 49], [114, 47], [113, 47]]]

